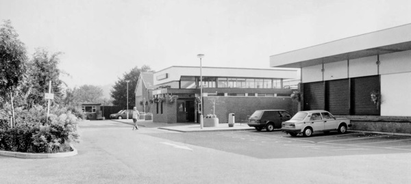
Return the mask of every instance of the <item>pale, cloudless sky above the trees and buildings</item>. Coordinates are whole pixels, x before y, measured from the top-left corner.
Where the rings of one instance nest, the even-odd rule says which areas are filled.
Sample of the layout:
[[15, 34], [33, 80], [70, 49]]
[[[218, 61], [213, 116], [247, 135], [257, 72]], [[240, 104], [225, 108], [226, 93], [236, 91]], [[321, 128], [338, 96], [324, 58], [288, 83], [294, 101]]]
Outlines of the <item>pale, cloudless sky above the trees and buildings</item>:
[[[411, 23], [411, 1], [0, 0], [29, 55], [63, 52], [70, 88], [135, 66], [270, 68], [269, 56]], [[2, 23], [1, 23], [2, 24]]]

